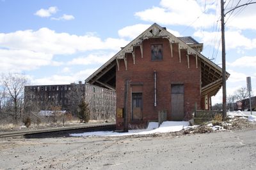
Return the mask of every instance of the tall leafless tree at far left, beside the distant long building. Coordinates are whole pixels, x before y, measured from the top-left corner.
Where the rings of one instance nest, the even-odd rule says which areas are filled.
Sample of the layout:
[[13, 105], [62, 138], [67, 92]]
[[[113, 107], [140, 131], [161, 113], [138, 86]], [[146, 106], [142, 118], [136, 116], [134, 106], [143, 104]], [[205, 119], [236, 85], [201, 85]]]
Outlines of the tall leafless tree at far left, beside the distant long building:
[[24, 104], [24, 85], [28, 84], [28, 78], [23, 74], [2, 74], [1, 84], [5, 89], [5, 97], [10, 104], [10, 115], [15, 123], [21, 117]]

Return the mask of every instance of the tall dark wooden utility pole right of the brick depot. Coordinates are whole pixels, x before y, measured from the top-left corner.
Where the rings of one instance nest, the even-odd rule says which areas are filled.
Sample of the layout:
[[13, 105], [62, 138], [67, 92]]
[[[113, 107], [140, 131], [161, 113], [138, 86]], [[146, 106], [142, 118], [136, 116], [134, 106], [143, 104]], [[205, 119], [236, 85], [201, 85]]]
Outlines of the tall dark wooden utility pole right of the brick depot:
[[221, 45], [222, 45], [222, 118], [227, 117], [227, 89], [226, 89], [226, 48], [225, 48], [225, 22], [224, 1], [221, 0]]

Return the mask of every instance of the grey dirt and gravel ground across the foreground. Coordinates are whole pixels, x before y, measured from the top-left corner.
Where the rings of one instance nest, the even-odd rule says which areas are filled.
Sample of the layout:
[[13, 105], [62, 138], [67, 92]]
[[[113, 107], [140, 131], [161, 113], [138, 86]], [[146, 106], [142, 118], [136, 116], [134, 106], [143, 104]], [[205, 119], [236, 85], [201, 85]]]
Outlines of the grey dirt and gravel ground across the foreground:
[[256, 126], [234, 125], [204, 133], [1, 138], [0, 169], [254, 169]]

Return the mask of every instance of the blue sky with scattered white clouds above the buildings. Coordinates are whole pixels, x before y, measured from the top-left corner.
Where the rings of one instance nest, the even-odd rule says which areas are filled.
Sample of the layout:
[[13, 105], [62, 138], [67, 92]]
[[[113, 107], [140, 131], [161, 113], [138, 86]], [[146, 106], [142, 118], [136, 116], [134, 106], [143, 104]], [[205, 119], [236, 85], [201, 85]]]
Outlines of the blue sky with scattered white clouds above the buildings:
[[[225, 12], [238, 2], [227, 0]], [[227, 96], [246, 76], [256, 94], [255, 9], [225, 16]], [[31, 85], [84, 81], [155, 22], [204, 43], [202, 54], [221, 66], [220, 0], [0, 0], [0, 16], [0, 73], [25, 74]], [[212, 104], [221, 101], [220, 90]]]

